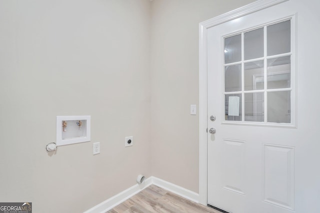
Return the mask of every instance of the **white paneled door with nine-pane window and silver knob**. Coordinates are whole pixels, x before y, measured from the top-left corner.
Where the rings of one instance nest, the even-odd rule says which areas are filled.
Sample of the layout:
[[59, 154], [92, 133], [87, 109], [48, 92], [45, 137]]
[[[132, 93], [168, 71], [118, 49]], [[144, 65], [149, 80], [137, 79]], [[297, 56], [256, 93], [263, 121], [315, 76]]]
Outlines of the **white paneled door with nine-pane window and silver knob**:
[[319, 9], [287, 0], [207, 29], [209, 205], [320, 212]]

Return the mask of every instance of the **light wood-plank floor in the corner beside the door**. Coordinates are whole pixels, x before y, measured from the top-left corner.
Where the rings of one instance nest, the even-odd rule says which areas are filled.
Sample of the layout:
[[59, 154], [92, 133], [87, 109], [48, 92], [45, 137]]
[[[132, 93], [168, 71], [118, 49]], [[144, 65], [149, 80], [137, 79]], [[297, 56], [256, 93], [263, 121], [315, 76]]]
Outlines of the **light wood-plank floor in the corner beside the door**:
[[151, 185], [106, 213], [221, 213]]

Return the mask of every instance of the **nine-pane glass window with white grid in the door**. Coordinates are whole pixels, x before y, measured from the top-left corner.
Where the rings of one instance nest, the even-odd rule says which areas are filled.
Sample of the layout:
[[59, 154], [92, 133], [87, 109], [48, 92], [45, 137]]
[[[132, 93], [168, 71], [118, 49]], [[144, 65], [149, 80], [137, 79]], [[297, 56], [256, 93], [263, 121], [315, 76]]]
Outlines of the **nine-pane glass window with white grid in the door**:
[[291, 20], [223, 37], [224, 123], [294, 125]]

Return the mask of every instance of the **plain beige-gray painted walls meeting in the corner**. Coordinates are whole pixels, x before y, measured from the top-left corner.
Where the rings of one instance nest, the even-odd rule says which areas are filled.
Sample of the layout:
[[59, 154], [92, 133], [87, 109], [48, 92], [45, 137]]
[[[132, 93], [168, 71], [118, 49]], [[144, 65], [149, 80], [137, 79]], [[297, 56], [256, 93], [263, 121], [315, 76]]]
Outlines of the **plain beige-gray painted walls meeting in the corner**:
[[[198, 23], [251, 1], [0, 0], [0, 201], [83, 212], [138, 174], [198, 192]], [[57, 115], [91, 115], [91, 142], [48, 154]]]

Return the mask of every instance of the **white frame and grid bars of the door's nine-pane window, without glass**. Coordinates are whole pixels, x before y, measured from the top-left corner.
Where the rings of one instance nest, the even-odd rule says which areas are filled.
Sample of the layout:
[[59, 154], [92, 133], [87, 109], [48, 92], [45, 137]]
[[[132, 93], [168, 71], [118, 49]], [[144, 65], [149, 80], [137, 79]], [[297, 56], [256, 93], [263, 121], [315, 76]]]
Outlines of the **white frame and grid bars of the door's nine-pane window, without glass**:
[[[289, 127], [289, 128], [296, 128], [296, 59], [295, 59], [295, 46], [296, 46], [296, 20], [295, 20], [295, 14], [291, 15], [289, 17], [284, 17], [282, 19], [274, 20], [268, 23], [264, 23], [261, 25], [257, 25], [254, 27], [238, 30], [236, 32], [232, 32], [230, 34], [224, 35], [221, 37], [221, 44], [222, 44], [222, 70], [223, 70], [223, 96], [222, 96], [222, 124], [235, 124], [235, 125], [253, 125], [253, 126], [275, 126], [275, 127]], [[273, 25], [276, 23], [280, 23], [283, 21], [290, 20], [290, 52], [281, 53], [277, 55], [269, 55], [267, 56], [267, 26]], [[244, 60], [244, 33], [248, 31], [252, 31], [254, 29], [258, 29], [263, 27], [263, 57], [259, 58], [253, 58]], [[234, 35], [241, 34], [241, 61], [236, 61], [232, 63], [224, 63], [224, 39], [227, 37], [231, 37]], [[290, 56], [290, 87], [287, 88], [278, 88], [278, 89], [267, 89], [267, 60], [272, 58], [278, 58], [283, 56]], [[263, 89], [258, 90], [244, 90], [244, 63], [248, 62], [255, 62], [255, 61], [261, 61], [263, 60]], [[225, 80], [224, 80], [224, 73], [225, 73], [225, 67], [230, 65], [241, 65], [241, 91], [234, 91], [234, 92], [225, 92]], [[290, 123], [273, 123], [273, 122], [267, 122], [267, 93], [268, 92], [280, 92], [280, 91], [290, 91]], [[264, 93], [264, 106], [263, 106], [263, 115], [264, 115], [264, 121], [263, 122], [256, 122], [256, 121], [244, 121], [245, 119], [245, 109], [244, 109], [244, 94], [252, 93], [256, 94], [257, 92], [263, 92]], [[225, 95], [229, 94], [241, 94], [241, 121], [229, 121], [225, 120]]]

